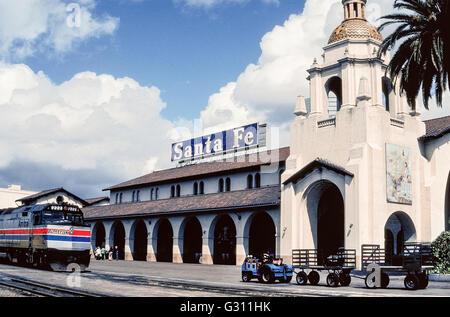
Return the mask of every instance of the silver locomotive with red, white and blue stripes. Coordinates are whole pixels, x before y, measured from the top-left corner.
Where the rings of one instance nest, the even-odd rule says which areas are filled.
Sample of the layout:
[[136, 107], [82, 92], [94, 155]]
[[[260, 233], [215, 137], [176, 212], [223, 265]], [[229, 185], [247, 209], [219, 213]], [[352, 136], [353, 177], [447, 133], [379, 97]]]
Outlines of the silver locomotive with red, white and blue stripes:
[[84, 271], [90, 261], [89, 225], [77, 206], [43, 204], [0, 210], [0, 252], [11, 262]]

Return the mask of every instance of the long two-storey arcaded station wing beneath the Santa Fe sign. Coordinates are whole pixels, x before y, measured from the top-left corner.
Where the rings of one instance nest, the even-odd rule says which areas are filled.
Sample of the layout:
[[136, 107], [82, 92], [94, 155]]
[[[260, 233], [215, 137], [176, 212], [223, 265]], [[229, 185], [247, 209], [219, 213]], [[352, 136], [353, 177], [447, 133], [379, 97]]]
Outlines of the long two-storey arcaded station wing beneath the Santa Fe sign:
[[119, 258], [240, 264], [280, 250], [280, 179], [289, 148], [192, 164], [112, 186], [83, 209], [92, 247]]

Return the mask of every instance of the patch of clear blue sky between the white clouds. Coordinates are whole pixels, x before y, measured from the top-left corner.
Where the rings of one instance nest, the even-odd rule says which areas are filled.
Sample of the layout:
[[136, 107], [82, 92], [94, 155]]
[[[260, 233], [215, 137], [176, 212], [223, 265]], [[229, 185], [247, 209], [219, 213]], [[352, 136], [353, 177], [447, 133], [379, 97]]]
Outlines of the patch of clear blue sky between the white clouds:
[[258, 61], [262, 36], [303, 6], [303, 0], [211, 8], [169, 0], [102, 0], [94, 14], [120, 18], [112, 36], [89, 39], [64, 55], [40, 52], [15, 61], [43, 70], [58, 84], [89, 70], [155, 85], [167, 102], [164, 117], [192, 120], [210, 95]]

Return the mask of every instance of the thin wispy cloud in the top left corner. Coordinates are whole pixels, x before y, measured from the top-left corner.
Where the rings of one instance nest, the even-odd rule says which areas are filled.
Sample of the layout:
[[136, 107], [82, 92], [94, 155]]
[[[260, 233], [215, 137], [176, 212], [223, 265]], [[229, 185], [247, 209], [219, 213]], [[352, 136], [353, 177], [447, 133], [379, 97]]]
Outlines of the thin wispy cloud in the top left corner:
[[[0, 57], [17, 60], [36, 51], [64, 53], [76, 43], [112, 34], [119, 19], [94, 17], [96, 0], [0, 0]], [[70, 10], [69, 10], [70, 9]]]

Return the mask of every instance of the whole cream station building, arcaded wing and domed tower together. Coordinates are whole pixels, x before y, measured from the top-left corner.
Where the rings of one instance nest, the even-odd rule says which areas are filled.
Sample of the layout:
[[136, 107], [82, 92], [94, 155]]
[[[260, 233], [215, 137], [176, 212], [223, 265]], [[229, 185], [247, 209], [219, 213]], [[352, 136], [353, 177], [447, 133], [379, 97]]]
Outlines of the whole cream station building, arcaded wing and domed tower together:
[[266, 251], [289, 262], [292, 249], [345, 247], [360, 266], [363, 244], [394, 261], [405, 242], [449, 230], [450, 117], [422, 121], [410, 109], [386, 75], [389, 53], [378, 56], [366, 2], [342, 1], [344, 21], [308, 70], [309, 107], [298, 97], [290, 147], [107, 188], [109, 205], [84, 209], [92, 247], [117, 245], [127, 260], [234, 265]]

